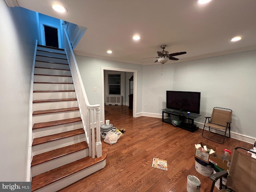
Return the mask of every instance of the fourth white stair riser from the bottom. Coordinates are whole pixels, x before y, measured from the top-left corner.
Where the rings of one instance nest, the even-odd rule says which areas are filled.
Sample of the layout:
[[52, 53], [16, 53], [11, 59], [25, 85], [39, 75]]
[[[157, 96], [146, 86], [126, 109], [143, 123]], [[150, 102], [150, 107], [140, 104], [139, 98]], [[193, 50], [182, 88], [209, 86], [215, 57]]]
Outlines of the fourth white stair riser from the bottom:
[[66, 131], [71, 131], [75, 129], [80, 129], [83, 127], [82, 121], [67, 123], [62, 125], [44, 127], [33, 130], [33, 138], [43, 137], [47, 135], [53, 135], [57, 133], [62, 133]]

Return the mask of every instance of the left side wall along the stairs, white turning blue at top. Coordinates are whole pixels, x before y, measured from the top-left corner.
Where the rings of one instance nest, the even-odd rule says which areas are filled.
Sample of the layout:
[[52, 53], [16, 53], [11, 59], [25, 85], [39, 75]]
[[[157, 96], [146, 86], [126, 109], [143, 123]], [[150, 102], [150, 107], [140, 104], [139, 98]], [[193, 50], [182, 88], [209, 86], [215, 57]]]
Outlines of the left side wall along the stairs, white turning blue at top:
[[0, 181], [26, 181], [35, 12], [0, 1]]

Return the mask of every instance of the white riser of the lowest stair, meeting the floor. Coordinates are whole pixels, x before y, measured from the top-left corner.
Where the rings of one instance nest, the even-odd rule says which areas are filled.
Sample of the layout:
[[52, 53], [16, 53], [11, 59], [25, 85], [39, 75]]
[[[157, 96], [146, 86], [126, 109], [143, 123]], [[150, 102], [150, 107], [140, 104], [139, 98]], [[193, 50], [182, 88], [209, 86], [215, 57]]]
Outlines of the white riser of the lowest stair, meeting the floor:
[[90, 166], [86, 169], [83, 169], [75, 174], [72, 174], [66, 178], [63, 178], [61, 180], [58, 180], [48, 186], [45, 186], [43, 188], [40, 188], [38, 190], [36, 190], [35, 192], [55, 192], [58, 191], [98, 170], [101, 170], [102, 168], [104, 168], [104, 166], [106, 166], [106, 160], [103, 160], [101, 162], [99, 162], [98, 164], [95, 164], [93, 166]]

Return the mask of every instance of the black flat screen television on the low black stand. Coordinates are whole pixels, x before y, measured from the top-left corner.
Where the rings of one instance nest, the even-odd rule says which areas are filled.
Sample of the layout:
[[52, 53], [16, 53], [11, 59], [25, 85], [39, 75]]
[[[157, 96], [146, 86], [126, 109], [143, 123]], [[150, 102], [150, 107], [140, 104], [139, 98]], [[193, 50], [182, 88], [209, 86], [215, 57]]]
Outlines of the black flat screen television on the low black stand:
[[166, 91], [166, 108], [200, 114], [201, 92]]

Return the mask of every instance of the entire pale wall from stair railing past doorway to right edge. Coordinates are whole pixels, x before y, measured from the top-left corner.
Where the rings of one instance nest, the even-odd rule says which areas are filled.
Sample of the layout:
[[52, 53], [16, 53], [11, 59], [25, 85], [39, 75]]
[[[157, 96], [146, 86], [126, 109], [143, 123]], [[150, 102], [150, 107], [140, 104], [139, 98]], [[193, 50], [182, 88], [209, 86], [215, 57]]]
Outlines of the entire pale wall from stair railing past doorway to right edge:
[[[82, 80], [92, 104], [101, 100], [100, 66], [138, 70], [137, 114], [161, 117], [166, 108], [166, 90], [201, 92], [199, 126], [214, 106], [233, 110], [232, 129], [236, 138], [256, 138], [256, 50], [162, 65], [136, 65], [76, 56]], [[93, 92], [92, 87], [98, 91]], [[153, 106], [153, 107], [152, 107]], [[241, 138], [242, 139], [242, 138]]]

